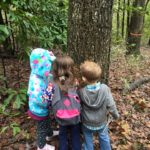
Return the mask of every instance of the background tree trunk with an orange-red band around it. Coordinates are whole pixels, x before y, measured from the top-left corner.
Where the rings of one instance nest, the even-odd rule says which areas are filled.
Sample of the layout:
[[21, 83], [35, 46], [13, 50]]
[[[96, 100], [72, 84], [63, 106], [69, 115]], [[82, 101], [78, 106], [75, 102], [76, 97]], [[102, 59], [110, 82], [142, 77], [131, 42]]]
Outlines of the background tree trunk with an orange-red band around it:
[[134, 0], [127, 33], [127, 54], [140, 54], [140, 42], [144, 25], [144, 10], [146, 0]]

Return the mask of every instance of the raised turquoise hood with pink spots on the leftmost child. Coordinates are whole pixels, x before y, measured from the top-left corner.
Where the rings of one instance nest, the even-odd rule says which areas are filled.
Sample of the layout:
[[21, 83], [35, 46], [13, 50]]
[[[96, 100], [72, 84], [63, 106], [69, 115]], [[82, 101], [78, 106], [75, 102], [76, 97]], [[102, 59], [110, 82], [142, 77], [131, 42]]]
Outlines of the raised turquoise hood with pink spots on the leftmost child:
[[30, 55], [31, 74], [47, 78], [55, 58], [54, 54], [48, 50], [34, 49]]

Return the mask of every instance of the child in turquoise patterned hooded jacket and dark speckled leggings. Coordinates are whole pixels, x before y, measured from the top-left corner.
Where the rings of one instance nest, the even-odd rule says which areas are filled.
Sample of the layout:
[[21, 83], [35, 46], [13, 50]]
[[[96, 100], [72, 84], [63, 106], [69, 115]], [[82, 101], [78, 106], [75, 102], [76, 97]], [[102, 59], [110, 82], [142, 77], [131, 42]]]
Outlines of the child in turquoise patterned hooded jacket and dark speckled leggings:
[[[52, 52], [37, 48], [30, 55], [31, 74], [29, 78], [28, 115], [37, 121], [38, 150], [53, 150], [54, 147], [46, 144], [46, 136], [52, 136], [50, 127], [49, 107], [54, 93], [53, 84], [48, 84], [48, 76], [55, 56]], [[48, 87], [48, 88], [47, 88]], [[46, 89], [49, 95], [46, 95]]]

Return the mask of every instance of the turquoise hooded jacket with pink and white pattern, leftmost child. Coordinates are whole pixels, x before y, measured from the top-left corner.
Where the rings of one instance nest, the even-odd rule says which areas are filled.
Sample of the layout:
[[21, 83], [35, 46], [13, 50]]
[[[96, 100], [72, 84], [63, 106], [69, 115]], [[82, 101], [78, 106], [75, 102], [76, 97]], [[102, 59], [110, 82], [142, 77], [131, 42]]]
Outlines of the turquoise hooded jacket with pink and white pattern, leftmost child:
[[31, 74], [27, 92], [29, 96], [28, 114], [36, 120], [43, 120], [49, 114], [51, 95], [48, 98], [44, 95], [47, 88], [51, 90], [49, 92], [51, 94], [54, 91], [53, 85], [48, 84], [48, 76], [54, 59], [55, 56], [52, 52], [42, 48], [34, 49], [30, 55]]

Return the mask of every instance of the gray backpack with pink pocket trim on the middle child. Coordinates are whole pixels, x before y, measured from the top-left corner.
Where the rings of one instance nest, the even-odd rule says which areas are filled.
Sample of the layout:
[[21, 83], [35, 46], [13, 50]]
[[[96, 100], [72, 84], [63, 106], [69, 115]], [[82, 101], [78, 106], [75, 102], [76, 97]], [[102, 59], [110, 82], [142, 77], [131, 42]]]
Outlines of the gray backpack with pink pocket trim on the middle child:
[[52, 107], [60, 125], [73, 125], [80, 122], [80, 99], [75, 88], [63, 94], [56, 85]]

